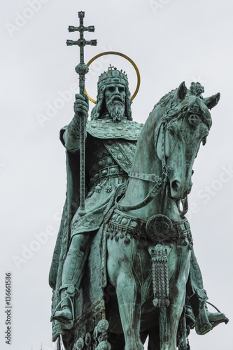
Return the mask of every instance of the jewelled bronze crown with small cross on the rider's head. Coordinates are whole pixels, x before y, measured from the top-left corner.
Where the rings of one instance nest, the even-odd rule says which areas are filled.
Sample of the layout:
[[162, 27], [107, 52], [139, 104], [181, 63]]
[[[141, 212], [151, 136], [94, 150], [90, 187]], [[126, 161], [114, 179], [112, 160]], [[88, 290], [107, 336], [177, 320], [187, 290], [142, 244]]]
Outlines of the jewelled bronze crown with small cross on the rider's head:
[[102, 73], [99, 76], [97, 86], [99, 89], [99, 87], [103, 85], [108, 85], [112, 83], [120, 83], [126, 86], [129, 85], [128, 77], [127, 77], [127, 74], [125, 74], [125, 71], [122, 72], [122, 69], [121, 71], [118, 71], [117, 68], [115, 68], [114, 66], [111, 66], [110, 64], [110, 66], [108, 67], [108, 71], [104, 71], [104, 73]]

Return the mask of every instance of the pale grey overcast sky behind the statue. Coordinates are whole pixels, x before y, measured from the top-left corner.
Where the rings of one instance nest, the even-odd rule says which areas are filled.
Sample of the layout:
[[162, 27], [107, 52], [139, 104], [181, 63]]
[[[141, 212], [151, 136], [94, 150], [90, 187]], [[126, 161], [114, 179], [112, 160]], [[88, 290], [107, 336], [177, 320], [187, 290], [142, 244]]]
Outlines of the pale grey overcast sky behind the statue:
[[[204, 85], [204, 97], [221, 93], [213, 127], [195, 160], [188, 218], [209, 300], [232, 312], [232, 13], [230, 0], [1, 0], [1, 349], [54, 349], [48, 271], [66, 191], [65, 153], [59, 129], [73, 118], [78, 47], [69, 25], [94, 25], [100, 52], [123, 52], [141, 73], [132, 116], [144, 123], [165, 93], [185, 80]], [[87, 92], [112, 64], [136, 74], [122, 58], [92, 64]], [[90, 103], [90, 109], [92, 108]], [[12, 345], [5, 343], [5, 274], [12, 273]], [[208, 335], [191, 332], [192, 350], [232, 349], [232, 323]]]

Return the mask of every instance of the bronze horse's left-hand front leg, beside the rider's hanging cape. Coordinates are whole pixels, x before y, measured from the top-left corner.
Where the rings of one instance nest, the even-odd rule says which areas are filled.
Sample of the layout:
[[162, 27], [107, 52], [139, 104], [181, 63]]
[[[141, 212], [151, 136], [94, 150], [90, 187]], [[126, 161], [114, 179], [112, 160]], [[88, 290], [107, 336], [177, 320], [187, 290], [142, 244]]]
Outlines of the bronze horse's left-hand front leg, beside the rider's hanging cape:
[[120, 272], [116, 293], [125, 335], [125, 350], [143, 350], [140, 338], [141, 304], [133, 276], [130, 277], [125, 272]]

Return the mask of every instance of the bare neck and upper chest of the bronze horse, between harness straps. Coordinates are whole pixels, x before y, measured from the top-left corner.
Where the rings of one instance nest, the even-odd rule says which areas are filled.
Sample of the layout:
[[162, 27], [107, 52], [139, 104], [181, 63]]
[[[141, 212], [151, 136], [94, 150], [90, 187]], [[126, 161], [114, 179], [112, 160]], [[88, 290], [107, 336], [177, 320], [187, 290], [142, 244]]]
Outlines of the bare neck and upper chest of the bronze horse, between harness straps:
[[[132, 162], [132, 172], [156, 174], [162, 177], [162, 162], [157, 157], [154, 140], [155, 127], [157, 127], [162, 114], [163, 108], [157, 106], [146, 120], [136, 145], [134, 160]], [[139, 204], [146, 198], [154, 186], [155, 183], [151, 181], [142, 181], [129, 177], [127, 190], [120, 204], [125, 206]], [[148, 220], [150, 216], [155, 214], [164, 214], [176, 221], [179, 218], [176, 202], [166, 195], [166, 189], [158, 193], [145, 207], [129, 211], [128, 214], [142, 220]]]

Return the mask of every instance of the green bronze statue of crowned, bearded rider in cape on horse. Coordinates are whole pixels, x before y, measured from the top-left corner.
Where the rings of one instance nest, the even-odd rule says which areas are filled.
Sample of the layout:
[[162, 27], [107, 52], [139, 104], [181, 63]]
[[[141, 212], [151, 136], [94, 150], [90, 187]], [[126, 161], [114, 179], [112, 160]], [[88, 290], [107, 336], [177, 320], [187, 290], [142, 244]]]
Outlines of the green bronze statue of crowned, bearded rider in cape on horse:
[[[220, 94], [185, 83], [166, 94], [145, 125], [132, 121], [128, 79], [99, 76], [85, 127], [85, 214], [79, 213], [80, 116], [61, 130], [67, 191], [50, 286], [52, 330], [71, 349], [189, 349], [188, 331], [209, 332], [227, 318], [206, 307], [206, 290], [185, 218], [192, 166]], [[111, 291], [111, 293], [110, 293]]]

